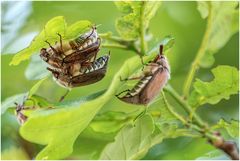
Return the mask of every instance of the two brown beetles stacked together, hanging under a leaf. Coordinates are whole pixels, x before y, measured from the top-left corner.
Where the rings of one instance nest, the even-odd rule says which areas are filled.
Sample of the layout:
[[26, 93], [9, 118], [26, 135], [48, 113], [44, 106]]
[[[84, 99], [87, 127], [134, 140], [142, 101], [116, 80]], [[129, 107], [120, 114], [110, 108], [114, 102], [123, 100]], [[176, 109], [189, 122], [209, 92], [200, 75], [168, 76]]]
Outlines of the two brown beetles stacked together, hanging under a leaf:
[[42, 48], [40, 57], [47, 62], [54, 79], [66, 87], [74, 88], [89, 85], [101, 80], [106, 73], [110, 55], [98, 59], [101, 39], [96, 27], [72, 41], [62, 41], [49, 48]]

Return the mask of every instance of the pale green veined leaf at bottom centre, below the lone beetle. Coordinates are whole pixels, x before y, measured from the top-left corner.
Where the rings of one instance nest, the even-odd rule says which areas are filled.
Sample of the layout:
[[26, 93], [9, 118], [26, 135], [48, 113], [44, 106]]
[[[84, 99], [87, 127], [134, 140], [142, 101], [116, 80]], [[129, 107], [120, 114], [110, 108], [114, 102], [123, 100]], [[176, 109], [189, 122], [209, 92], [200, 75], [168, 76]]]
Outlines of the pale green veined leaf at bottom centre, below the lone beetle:
[[151, 134], [154, 124], [150, 115], [139, 118], [135, 126], [127, 125], [117, 134], [114, 142], [108, 144], [101, 156], [101, 160], [132, 160], [140, 159], [138, 153], [146, 153], [151, 146]]

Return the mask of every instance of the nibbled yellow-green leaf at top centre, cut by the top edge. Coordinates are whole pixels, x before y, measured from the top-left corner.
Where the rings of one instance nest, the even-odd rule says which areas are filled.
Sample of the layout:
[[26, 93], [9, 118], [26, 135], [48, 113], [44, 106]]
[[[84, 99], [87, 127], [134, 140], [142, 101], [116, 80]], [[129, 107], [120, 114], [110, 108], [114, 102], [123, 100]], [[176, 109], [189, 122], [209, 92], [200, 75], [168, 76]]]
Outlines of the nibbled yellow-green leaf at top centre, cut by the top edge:
[[155, 1], [118, 1], [117, 8], [124, 14], [116, 20], [119, 35], [128, 40], [135, 40], [140, 35], [141, 25], [148, 29], [149, 22], [156, 14], [161, 2]]

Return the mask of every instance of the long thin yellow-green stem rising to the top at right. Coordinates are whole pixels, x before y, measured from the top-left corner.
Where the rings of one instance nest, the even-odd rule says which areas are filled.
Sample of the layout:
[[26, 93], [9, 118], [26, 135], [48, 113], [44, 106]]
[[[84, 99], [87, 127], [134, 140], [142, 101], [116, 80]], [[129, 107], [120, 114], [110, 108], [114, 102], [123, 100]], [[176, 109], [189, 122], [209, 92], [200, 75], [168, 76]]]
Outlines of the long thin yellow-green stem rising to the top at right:
[[189, 91], [190, 91], [190, 88], [191, 88], [193, 78], [195, 76], [196, 71], [199, 69], [199, 62], [201, 61], [202, 57], [205, 54], [205, 50], [206, 50], [207, 45], [208, 45], [208, 39], [209, 39], [209, 36], [210, 36], [211, 28], [212, 28], [212, 14], [211, 14], [211, 5], [209, 4], [209, 15], [208, 15], [206, 31], [204, 33], [201, 46], [200, 46], [200, 48], [197, 52], [197, 55], [196, 55], [196, 57], [195, 57], [195, 59], [192, 63], [191, 69], [188, 72], [187, 79], [186, 79], [185, 84], [183, 86], [183, 97], [184, 97], [184, 99], [187, 99], [188, 96], [189, 96]]

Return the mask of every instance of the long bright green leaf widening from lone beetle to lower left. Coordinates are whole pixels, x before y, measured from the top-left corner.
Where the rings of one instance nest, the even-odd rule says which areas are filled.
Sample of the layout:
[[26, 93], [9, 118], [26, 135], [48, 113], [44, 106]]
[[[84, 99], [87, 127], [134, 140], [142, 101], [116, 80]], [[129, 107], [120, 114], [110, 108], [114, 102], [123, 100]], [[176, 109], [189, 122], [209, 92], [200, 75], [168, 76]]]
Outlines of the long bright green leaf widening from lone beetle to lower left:
[[[158, 49], [156, 47], [149, 56], [145, 56], [144, 62], [152, 60]], [[90, 96], [90, 100], [85, 99], [80, 105], [33, 112], [20, 128], [20, 134], [30, 142], [47, 145], [36, 159], [61, 159], [71, 154], [78, 135], [123, 84], [120, 76], [127, 78], [141, 66], [141, 59], [136, 55], [122, 65], [104, 94], [95, 95], [94, 99]]]

